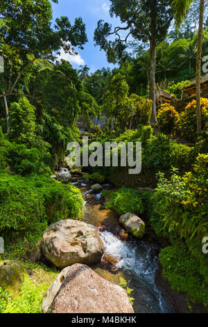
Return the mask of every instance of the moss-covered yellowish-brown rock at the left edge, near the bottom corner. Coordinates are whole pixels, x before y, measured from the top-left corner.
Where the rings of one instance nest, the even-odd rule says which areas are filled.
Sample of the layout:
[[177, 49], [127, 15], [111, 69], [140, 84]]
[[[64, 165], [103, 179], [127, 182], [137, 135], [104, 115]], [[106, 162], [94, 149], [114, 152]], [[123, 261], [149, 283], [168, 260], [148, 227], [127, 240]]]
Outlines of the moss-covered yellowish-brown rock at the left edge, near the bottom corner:
[[23, 280], [24, 269], [19, 262], [9, 260], [0, 262], [0, 287], [16, 297]]

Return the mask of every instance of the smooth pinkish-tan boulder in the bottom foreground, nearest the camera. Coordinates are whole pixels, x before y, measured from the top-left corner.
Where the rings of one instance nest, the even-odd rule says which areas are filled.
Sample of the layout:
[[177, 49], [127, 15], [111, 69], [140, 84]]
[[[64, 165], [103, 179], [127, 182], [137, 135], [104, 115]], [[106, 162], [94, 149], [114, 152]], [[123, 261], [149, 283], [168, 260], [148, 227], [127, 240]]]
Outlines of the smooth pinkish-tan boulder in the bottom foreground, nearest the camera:
[[88, 266], [73, 264], [56, 294], [53, 313], [133, 313], [125, 289]]

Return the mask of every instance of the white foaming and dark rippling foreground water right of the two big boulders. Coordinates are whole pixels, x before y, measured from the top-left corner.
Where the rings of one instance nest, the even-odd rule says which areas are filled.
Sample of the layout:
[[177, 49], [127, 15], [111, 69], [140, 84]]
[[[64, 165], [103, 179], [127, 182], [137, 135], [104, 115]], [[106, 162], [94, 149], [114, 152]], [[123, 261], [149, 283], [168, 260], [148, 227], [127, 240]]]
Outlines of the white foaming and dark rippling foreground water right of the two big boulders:
[[121, 241], [107, 231], [101, 233], [101, 238], [105, 252], [121, 256], [118, 267], [128, 281], [128, 286], [133, 289], [135, 312], [171, 312], [170, 305], [155, 286], [155, 248], [135, 239]]

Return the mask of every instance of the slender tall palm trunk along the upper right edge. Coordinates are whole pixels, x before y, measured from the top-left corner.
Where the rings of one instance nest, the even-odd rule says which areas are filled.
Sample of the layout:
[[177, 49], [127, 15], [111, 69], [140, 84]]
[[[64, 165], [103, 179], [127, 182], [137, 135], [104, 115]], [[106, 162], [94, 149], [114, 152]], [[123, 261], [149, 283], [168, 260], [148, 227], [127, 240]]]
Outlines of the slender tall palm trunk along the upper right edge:
[[205, 0], [200, 0], [200, 19], [198, 27], [198, 45], [196, 56], [196, 122], [198, 135], [201, 133], [201, 109], [200, 109], [200, 80], [201, 80], [201, 58], [202, 58], [202, 36], [203, 36], [203, 21], [204, 21]]

